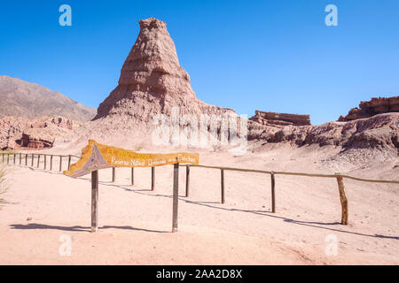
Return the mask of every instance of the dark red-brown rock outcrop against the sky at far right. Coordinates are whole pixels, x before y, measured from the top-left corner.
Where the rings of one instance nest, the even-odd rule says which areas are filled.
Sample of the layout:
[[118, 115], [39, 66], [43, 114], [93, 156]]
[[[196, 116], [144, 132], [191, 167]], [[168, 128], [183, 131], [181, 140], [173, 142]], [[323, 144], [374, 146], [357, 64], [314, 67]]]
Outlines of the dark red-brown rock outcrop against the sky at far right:
[[363, 101], [359, 107], [352, 108], [348, 115], [340, 116], [339, 121], [351, 121], [356, 119], [369, 118], [377, 114], [399, 112], [399, 96], [373, 97], [371, 101]]

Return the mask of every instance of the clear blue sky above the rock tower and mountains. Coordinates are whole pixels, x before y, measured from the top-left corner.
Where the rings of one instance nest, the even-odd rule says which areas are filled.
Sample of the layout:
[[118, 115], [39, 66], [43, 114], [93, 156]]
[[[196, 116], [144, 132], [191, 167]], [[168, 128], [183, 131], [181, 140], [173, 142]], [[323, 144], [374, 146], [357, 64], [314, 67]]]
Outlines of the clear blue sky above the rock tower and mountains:
[[[59, 26], [59, 6], [72, 27]], [[325, 26], [325, 6], [338, 27]], [[2, 1], [0, 75], [98, 107], [116, 87], [139, 19], [162, 19], [197, 96], [252, 116], [313, 124], [399, 94], [398, 0]]]

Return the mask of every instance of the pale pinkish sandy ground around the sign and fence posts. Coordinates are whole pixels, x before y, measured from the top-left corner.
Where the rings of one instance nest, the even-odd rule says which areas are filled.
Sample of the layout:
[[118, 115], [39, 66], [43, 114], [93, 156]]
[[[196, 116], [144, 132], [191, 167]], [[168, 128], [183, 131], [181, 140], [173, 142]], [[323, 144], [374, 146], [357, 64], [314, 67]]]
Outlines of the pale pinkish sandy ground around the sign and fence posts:
[[[325, 150], [201, 152], [200, 164], [399, 179], [397, 158], [345, 171], [321, 161], [333, 153]], [[192, 168], [184, 197], [181, 168], [179, 226], [171, 233], [172, 166], [156, 168], [154, 191], [150, 168], [135, 169], [135, 186], [129, 168], [117, 170], [115, 183], [106, 169], [99, 173], [99, 230], [90, 233], [90, 175], [7, 168], [0, 264], [399, 264], [398, 185], [345, 180], [349, 225], [341, 226], [334, 179], [278, 175], [271, 213], [269, 175], [225, 172], [221, 204], [219, 171]]]

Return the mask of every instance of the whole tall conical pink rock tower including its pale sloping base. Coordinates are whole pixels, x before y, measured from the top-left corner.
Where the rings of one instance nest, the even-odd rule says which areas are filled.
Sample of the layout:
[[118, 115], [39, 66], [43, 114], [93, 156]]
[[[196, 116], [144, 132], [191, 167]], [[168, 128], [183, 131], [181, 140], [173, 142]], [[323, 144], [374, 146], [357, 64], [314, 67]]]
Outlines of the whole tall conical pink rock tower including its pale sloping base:
[[[195, 95], [189, 74], [179, 64], [166, 23], [150, 18], [139, 20], [139, 25], [137, 40], [121, 67], [118, 86], [100, 103], [96, 117], [82, 126], [73, 146], [82, 146], [89, 138], [120, 144], [116, 136], [125, 137], [129, 143], [151, 144], [157, 126], [153, 118], [165, 115], [166, 123], [171, 125], [174, 110], [179, 118], [192, 114], [198, 128], [201, 115], [231, 115], [240, 119], [235, 111], [209, 105]], [[181, 127], [195, 127], [191, 123]], [[205, 131], [207, 127], [209, 122]], [[120, 145], [126, 146], [126, 142]]]

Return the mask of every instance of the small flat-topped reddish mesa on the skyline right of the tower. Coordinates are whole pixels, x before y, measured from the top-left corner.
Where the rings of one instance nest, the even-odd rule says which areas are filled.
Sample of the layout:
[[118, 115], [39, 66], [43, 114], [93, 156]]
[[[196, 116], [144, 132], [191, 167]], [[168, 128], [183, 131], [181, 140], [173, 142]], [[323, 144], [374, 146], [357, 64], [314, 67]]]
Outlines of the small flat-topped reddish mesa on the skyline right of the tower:
[[255, 111], [250, 120], [265, 126], [307, 126], [310, 125], [310, 115], [296, 115], [276, 112]]

